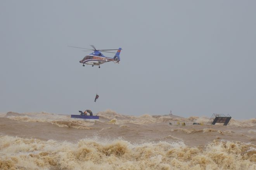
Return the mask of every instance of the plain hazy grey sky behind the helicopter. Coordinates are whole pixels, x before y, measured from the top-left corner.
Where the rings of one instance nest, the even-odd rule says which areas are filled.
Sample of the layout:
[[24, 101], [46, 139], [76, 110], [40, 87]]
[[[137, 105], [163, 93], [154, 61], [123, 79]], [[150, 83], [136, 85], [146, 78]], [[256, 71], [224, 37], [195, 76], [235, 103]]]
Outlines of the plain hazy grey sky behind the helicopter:
[[[255, 118], [255, 9], [254, 0], [1, 0], [0, 112]], [[120, 64], [82, 67], [90, 52], [67, 47], [90, 45], [122, 47]]]

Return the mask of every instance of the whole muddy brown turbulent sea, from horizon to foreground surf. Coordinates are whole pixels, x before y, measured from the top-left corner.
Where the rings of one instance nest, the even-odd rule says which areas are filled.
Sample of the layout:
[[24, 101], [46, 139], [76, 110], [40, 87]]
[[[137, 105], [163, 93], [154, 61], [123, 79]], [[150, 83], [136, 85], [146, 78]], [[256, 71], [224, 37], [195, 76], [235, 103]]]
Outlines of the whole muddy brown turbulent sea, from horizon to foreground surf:
[[0, 114], [0, 170], [256, 170], [256, 118], [96, 115]]

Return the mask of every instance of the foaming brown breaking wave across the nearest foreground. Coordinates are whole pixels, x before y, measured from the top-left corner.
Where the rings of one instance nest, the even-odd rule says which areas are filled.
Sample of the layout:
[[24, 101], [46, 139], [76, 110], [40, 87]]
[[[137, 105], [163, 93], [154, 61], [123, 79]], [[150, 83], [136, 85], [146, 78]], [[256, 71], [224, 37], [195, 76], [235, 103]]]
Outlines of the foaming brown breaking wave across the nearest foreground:
[[256, 146], [213, 141], [205, 147], [182, 142], [131, 144], [124, 140], [81, 139], [77, 143], [0, 137], [0, 169], [205, 170], [256, 168]]

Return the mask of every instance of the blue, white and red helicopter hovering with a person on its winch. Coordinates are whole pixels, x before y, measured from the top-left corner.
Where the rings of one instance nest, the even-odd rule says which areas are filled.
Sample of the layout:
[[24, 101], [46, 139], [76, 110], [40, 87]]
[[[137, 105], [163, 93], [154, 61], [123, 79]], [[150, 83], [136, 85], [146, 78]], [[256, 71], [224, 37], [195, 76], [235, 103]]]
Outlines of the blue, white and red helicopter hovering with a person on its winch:
[[[85, 52], [93, 51], [92, 53], [86, 55], [82, 60], [79, 61], [80, 63], [83, 63], [83, 67], [85, 67], [85, 64], [87, 64], [87, 65], [92, 65], [92, 67], [94, 65], [99, 65], [99, 68], [100, 68], [100, 64], [104, 64], [106, 62], [114, 62], [114, 63], [119, 64], [119, 61], [120, 61], [119, 55], [120, 55], [122, 48], [110, 49], [110, 50], [97, 50], [94, 45], [90, 45], [90, 46], [93, 49], [69, 46], [69, 47], [73, 47], [73, 48], [85, 49], [86, 50]], [[106, 57], [101, 53], [101, 52], [107, 52], [107, 51], [112, 51], [112, 50], [117, 50], [117, 52], [115, 53], [113, 58]], [[114, 53], [114, 52], [107, 52], [107, 53]]]

